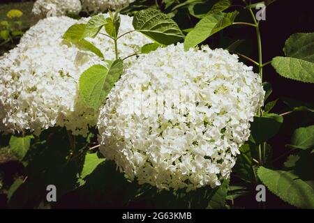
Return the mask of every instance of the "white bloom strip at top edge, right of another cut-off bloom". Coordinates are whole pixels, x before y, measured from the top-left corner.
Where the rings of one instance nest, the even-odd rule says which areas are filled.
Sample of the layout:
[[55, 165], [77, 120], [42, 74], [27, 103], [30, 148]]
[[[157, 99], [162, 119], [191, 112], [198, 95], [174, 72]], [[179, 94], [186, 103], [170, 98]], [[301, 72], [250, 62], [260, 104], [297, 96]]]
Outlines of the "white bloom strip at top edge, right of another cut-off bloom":
[[105, 12], [127, 6], [135, 0], [82, 0], [82, 8], [89, 12]]

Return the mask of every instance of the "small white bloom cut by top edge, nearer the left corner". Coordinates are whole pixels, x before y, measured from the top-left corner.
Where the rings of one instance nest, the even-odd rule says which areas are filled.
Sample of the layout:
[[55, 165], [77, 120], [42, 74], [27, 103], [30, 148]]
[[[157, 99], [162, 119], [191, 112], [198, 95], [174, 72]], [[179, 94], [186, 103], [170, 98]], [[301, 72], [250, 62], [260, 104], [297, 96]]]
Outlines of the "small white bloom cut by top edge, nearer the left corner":
[[37, 0], [31, 10], [39, 18], [78, 14], [82, 10], [80, 0]]

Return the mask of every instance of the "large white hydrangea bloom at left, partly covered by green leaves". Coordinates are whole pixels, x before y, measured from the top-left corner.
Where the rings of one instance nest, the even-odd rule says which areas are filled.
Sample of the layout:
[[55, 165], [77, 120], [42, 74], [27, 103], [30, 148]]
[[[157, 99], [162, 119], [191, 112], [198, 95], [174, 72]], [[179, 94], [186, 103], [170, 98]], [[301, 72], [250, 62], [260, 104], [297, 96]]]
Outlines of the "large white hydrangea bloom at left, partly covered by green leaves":
[[[40, 134], [57, 125], [85, 136], [89, 126], [96, 125], [98, 111], [86, 108], [80, 100], [78, 82], [84, 70], [106, 63], [94, 53], [62, 39], [71, 25], [88, 20], [69, 17], [40, 20], [24, 34], [15, 49], [0, 57], [0, 132]], [[133, 30], [132, 20], [121, 15], [120, 33]], [[101, 50], [106, 60], [115, 58], [110, 38], [98, 35], [87, 40]], [[124, 58], [151, 40], [133, 32], [119, 38], [118, 43], [120, 56]], [[133, 60], [128, 59], [129, 64]]]

